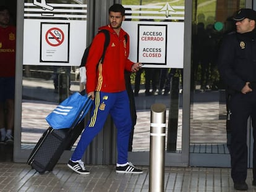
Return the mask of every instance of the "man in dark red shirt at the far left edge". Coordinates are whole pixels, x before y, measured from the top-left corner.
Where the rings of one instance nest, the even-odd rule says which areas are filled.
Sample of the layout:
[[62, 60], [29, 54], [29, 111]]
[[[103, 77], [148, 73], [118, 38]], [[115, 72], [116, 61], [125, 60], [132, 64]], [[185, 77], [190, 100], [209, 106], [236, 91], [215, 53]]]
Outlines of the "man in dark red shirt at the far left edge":
[[[0, 6], [0, 131], [1, 143], [12, 143], [14, 127], [15, 33], [9, 25], [9, 10]], [[7, 112], [5, 116], [5, 105]], [[5, 127], [6, 126], [6, 127]]]

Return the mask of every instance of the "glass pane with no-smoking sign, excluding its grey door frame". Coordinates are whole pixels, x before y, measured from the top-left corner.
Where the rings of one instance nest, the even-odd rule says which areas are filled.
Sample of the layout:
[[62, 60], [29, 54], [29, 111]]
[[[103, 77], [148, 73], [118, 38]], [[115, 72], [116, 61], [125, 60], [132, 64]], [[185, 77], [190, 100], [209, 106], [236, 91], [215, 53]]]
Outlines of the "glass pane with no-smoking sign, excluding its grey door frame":
[[[48, 30], [58, 25], [58, 30], [64, 31], [62, 40], [69, 41], [70, 38], [70, 43], [65, 44], [67, 52], [61, 46], [46, 43], [48, 39], [41, 33], [41, 23], [48, 23]], [[63, 23], [69, 24], [70, 28], [61, 28]], [[78, 66], [86, 44], [86, 26], [87, 0], [24, 2], [22, 148], [33, 148], [49, 126], [45, 117], [59, 102], [82, 88]], [[74, 43], [77, 42], [75, 38], [79, 38], [79, 44]], [[47, 51], [42, 49], [42, 44], [47, 46]], [[42, 52], [48, 57], [47, 62], [40, 60], [41, 50], [45, 51]], [[67, 55], [69, 59], [62, 60]]]

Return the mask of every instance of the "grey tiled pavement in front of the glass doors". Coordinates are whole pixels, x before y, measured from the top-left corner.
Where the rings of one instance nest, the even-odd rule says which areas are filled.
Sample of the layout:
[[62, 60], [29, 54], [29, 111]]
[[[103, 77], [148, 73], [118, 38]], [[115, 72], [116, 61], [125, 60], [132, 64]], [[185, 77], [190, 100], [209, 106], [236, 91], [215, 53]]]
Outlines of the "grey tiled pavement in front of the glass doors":
[[[40, 175], [27, 164], [0, 162], [0, 191], [93, 191], [146, 192], [149, 186], [148, 167], [142, 174], [116, 173], [114, 165], [88, 165], [90, 175], [72, 172], [66, 164], [58, 164], [53, 172]], [[164, 191], [236, 191], [228, 168], [166, 167]], [[256, 191], [249, 169], [248, 191]]]

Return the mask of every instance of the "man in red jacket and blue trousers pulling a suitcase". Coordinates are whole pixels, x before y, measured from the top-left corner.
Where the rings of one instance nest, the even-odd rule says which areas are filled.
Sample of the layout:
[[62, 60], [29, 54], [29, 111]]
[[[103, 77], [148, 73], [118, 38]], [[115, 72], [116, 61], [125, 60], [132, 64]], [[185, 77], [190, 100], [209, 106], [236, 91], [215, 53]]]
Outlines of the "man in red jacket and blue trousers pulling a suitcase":
[[105, 35], [99, 33], [93, 39], [85, 65], [87, 93], [92, 96], [95, 103], [87, 127], [67, 164], [70, 169], [80, 174], [90, 173], [85, 169], [81, 159], [88, 144], [103, 128], [108, 114], [111, 114], [117, 128], [116, 172], [143, 173], [127, 161], [132, 120], [124, 71], [136, 72], [140, 69], [140, 63], [134, 63], [128, 59], [129, 35], [121, 28], [122, 21], [125, 19], [124, 12], [125, 9], [121, 4], [109, 7], [109, 25], [99, 28], [99, 30], [108, 30], [110, 36], [104, 62], [101, 63], [100, 58], [103, 53]]

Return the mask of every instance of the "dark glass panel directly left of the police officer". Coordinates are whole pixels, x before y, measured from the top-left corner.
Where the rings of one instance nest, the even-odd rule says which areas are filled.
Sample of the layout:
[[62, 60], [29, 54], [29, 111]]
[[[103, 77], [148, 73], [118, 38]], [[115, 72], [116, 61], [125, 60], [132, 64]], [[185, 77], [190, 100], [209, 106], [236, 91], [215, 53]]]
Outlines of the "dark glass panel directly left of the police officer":
[[193, 2], [190, 165], [229, 167], [228, 98], [216, 58], [222, 36], [234, 30], [231, 17], [245, 1]]

